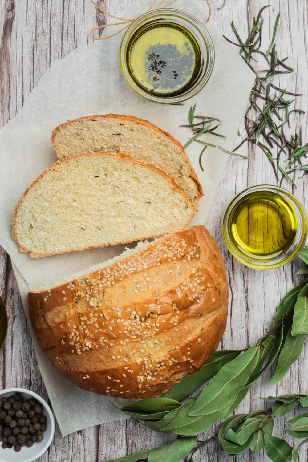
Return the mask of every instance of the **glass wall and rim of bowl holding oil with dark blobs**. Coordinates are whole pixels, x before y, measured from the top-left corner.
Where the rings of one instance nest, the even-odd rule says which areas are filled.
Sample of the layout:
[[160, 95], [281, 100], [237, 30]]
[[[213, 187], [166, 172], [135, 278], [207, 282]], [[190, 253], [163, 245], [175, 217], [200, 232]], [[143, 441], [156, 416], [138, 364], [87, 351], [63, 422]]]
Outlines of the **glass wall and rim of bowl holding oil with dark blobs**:
[[[201, 51], [201, 66], [195, 81], [186, 91], [174, 96], [152, 95], [140, 88], [129, 72], [127, 64], [127, 50], [129, 49], [130, 40], [137, 30], [145, 27], [146, 24], [157, 24], [159, 22], [172, 22], [185, 27], [194, 36]], [[205, 26], [193, 15], [173, 8], [157, 9], [139, 16], [125, 32], [120, 45], [120, 66], [128, 85], [140, 96], [155, 103], [176, 104], [195, 96], [210, 79], [214, 67], [214, 60], [214, 44]]]

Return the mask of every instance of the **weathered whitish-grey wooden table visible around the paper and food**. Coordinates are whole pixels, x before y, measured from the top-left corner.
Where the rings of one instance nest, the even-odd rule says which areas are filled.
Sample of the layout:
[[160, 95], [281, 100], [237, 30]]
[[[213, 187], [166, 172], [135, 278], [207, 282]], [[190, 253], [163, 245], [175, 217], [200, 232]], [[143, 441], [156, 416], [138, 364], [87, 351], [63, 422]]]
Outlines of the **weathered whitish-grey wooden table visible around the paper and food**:
[[[110, 13], [117, 14], [133, 0], [97, 0]], [[207, 8], [205, 0], [199, 0]], [[223, 33], [232, 37], [231, 20], [243, 37], [265, 0], [210, 0], [212, 19]], [[307, 109], [308, 95], [308, 2], [307, 0], [272, 0], [264, 12], [264, 39], [280, 11], [277, 43], [280, 57], [289, 56], [296, 72], [284, 75], [279, 86], [288, 86], [303, 93], [301, 108]], [[53, 61], [63, 58], [73, 49], [91, 43], [92, 27], [104, 24], [105, 15], [96, 11], [90, 0], [0, 0], [0, 126], [4, 126], [21, 109], [30, 91]], [[233, 37], [232, 37], [233, 38]], [[226, 77], [226, 85], [228, 78]], [[302, 116], [303, 135], [308, 136], [306, 116]], [[298, 126], [297, 122], [297, 126]], [[243, 151], [248, 153], [248, 148]], [[227, 155], [227, 154], [226, 154]], [[253, 344], [268, 328], [280, 298], [296, 283], [297, 261], [271, 272], [248, 269], [227, 252], [222, 239], [221, 217], [229, 200], [239, 191], [254, 184], [276, 184], [272, 168], [260, 152], [249, 149], [249, 159], [230, 157], [228, 166], [212, 208], [207, 227], [216, 239], [227, 266], [230, 284], [229, 318], [223, 336], [223, 348], [240, 348]], [[307, 176], [297, 180], [296, 196], [308, 208]], [[284, 187], [289, 188], [288, 183]], [[294, 192], [294, 191], [293, 191]], [[0, 388], [24, 387], [48, 399], [38, 370], [31, 336], [18, 293], [18, 286], [9, 258], [0, 250], [0, 294], [5, 300], [10, 320], [6, 344], [0, 352]], [[305, 352], [277, 387], [269, 389], [270, 371], [255, 383], [238, 412], [253, 412], [264, 407], [260, 396], [308, 392], [308, 344]], [[291, 414], [292, 416], [292, 414]], [[289, 417], [290, 418], [290, 417]], [[211, 428], [205, 437], [212, 436]], [[283, 435], [279, 419], [277, 436]], [[284, 433], [285, 437], [285, 433]], [[136, 450], [155, 447], [174, 439], [139, 425], [133, 419], [89, 428], [66, 438], [56, 429], [55, 438], [42, 462], [103, 462]], [[292, 439], [290, 438], [290, 442]], [[205, 446], [194, 457], [195, 462], [226, 461], [227, 456], [217, 444]], [[263, 451], [245, 451], [238, 462], [269, 460]], [[301, 462], [308, 460], [307, 445], [301, 451]]]

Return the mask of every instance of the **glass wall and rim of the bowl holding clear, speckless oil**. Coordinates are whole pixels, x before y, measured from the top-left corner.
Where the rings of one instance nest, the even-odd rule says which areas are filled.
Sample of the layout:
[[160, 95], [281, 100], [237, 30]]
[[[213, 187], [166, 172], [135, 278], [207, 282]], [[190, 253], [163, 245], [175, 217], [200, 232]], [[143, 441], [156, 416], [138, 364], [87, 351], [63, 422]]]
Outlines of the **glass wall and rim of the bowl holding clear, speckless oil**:
[[[231, 219], [236, 207], [243, 200], [245, 196], [258, 191], [272, 192], [273, 194], [279, 195], [284, 201], [287, 201], [296, 216], [297, 228], [293, 242], [290, 244], [288, 249], [278, 255], [251, 255], [242, 247], [236, 246], [232, 240], [232, 232], [230, 231]], [[254, 269], [268, 270], [286, 265], [289, 261], [293, 260], [297, 253], [302, 249], [306, 242], [308, 223], [307, 215], [302, 207], [302, 204], [296, 199], [296, 197], [289, 191], [278, 186], [271, 185], [259, 185], [247, 188], [229, 203], [224, 215], [223, 215], [223, 239], [229, 252], [240, 261], [243, 265]]]

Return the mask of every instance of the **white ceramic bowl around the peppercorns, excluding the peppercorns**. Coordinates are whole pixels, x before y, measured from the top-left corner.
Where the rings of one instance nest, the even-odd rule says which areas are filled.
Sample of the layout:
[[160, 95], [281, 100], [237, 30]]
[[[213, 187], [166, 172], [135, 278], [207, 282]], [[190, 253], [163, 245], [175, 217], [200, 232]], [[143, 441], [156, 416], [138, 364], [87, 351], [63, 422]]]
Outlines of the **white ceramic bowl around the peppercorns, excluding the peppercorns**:
[[43, 432], [43, 440], [40, 443], [34, 443], [31, 448], [24, 446], [19, 452], [12, 449], [2, 449], [0, 443], [0, 461], [1, 462], [32, 462], [37, 459], [37, 457], [42, 456], [42, 454], [48, 450], [52, 439], [54, 438], [54, 416], [51, 412], [50, 407], [44, 401], [41, 396], [36, 395], [33, 391], [25, 390], [23, 388], [8, 388], [6, 390], [0, 391], [0, 398], [3, 396], [9, 397], [15, 393], [21, 393], [25, 399], [35, 398], [44, 409], [43, 414], [47, 418], [47, 429]]

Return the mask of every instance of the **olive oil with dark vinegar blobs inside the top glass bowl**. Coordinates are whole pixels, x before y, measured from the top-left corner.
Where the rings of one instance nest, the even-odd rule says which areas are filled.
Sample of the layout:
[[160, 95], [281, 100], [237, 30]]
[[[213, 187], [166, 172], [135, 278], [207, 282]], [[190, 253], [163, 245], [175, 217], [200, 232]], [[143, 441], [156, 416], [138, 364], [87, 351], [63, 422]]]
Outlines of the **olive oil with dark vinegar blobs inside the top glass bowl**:
[[194, 36], [172, 22], [145, 24], [127, 47], [127, 67], [144, 91], [170, 97], [187, 91], [201, 69], [201, 51]]

